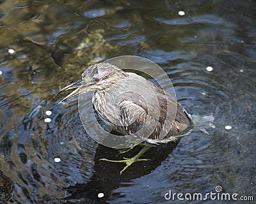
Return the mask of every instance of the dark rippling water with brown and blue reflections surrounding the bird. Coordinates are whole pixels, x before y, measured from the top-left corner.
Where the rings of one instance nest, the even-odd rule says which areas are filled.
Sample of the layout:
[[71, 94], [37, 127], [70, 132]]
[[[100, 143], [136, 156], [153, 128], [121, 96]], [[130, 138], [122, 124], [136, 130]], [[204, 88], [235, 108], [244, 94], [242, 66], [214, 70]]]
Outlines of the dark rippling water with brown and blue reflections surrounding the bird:
[[[170, 190], [205, 194], [216, 186], [255, 200], [255, 8], [255, 1], [1, 1], [0, 203], [171, 203]], [[152, 161], [122, 176], [123, 164], [100, 162], [116, 150], [86, 134], [77, 98], [59, 105], [65, 93], [56, 93], [88, 65], [118, 55], [159, 64], [186, 110], [214, 115], [216, 128], [148, 151]], [[224, 201], [205, 201], [216, 202]]]

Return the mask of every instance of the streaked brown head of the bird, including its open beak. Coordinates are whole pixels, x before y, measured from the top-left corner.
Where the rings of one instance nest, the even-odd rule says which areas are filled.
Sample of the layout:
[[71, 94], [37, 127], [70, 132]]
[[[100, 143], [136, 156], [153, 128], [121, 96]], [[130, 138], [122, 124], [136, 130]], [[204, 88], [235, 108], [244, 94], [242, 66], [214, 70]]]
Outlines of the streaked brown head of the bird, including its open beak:
[[113, 64], [102, 62], [89, 66], [83, 72], [82, 79], [61, 89], [60, 92], [67, 91], [69, 89], [76, 90], [63, 98], [60, 103], [81, 93], [108, 89], [108, 87], [115, 84], [116, 80], [120, 80], [120, 78], [123, 77], [127, 77], [127, 73]]

